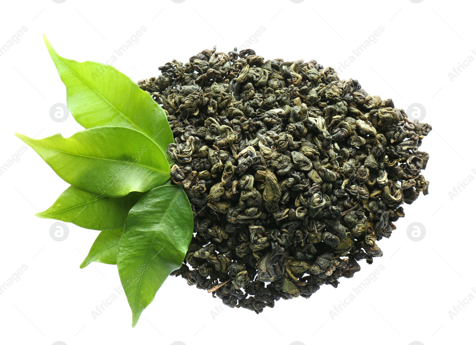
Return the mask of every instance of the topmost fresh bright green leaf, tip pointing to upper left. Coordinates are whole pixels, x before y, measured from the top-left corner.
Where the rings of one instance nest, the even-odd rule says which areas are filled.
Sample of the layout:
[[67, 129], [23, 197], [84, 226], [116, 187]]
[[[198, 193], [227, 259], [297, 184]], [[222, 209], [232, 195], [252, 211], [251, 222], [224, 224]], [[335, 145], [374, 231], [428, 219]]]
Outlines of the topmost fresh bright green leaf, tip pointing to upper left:
[[84, 128], [129, 127], [146, 134], [164, 152], [173, 142], [164, 110], [127, 75], [99, 62], [68, 60], [43, 35], [51, 59], [66, 85], [68, 109]]

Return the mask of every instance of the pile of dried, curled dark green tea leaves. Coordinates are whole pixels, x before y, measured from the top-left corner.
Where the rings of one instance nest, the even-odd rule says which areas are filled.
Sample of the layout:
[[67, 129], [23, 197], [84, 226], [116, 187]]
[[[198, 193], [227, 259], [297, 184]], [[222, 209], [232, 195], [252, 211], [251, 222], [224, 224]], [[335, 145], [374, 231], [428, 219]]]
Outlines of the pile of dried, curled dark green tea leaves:
[[172, 183], [195, 215], [172, 275], [230, 307], [337, 287], [428, 193], [418, 147], [431, 126], [331, 67], [214, 48], [159, 70], [139, 86], [168, 113]]

